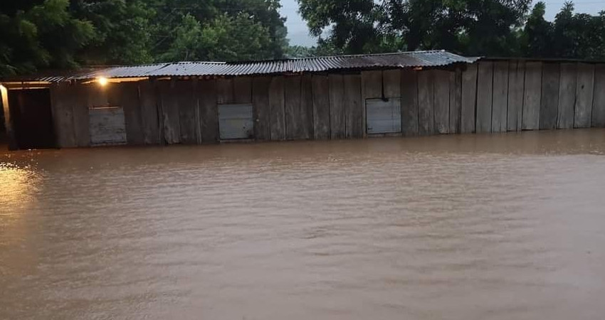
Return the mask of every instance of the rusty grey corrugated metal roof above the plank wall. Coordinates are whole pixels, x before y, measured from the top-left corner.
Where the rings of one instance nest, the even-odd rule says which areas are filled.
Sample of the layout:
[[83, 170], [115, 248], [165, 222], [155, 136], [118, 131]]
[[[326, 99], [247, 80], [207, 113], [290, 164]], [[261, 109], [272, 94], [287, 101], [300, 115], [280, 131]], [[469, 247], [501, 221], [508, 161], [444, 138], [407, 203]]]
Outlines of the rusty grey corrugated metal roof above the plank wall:
[[[369, 70], [379, 68], [438, 67], [453, 63], [473, 63], [478, 58], [465, 58], [445, 50], [409, 51], [372, 55], [335, 55], [327, 57], [263, 60], [236, 63], [179, 62], [151, 65], [119, 66], [82, 70], [71, 74], [46, 73], [45, 76], [21, 77], [17, 81], [59, 82], [95, 78], [142, 78], [165, 76], [236, 76], [273, 75], [280, 73], [317, 73], [334, 70]], [[16, 77], [19, 78], [19, 77]]]

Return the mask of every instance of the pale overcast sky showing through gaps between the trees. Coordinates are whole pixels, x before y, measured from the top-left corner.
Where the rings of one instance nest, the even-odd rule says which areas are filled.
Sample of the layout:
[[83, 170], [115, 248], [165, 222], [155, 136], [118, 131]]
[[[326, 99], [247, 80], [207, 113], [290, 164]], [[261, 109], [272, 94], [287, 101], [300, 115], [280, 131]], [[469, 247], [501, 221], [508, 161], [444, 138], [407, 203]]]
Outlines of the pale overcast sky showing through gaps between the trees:
[[[288, 27], [288, 38], [291, 45], [313, 46], [315, 40], [309, 36], [307, 25], [298, 14], [298, 3], [296, 0], [280, 0], [282, 4], [281, 14], [288, 18], [285, 25]], [[564, 0], [547, 0], [546, 18], [552, 20], [554, 15], [563, 6]], [[586, 14], [597, 14], [605, 9], [605, 0], [576, 0], [574, 1], [576, 12]]]

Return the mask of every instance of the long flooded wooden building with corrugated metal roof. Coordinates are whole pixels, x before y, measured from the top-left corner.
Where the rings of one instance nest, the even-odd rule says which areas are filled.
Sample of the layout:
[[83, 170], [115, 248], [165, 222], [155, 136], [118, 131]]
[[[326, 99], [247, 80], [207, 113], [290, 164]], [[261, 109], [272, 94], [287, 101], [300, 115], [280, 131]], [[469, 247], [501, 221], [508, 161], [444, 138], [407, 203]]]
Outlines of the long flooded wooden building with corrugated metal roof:
[[605, 127], [605, 64], [443, 50], [0, 80], [14, 149]]

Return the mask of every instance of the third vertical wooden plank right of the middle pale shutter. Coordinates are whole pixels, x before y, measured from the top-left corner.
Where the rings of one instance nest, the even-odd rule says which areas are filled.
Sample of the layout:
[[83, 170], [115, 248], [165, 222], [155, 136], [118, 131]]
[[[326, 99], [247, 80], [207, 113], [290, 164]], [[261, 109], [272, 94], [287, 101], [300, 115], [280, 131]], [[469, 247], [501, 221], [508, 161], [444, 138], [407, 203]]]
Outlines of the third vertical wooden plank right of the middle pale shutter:
[[300, 75], [285, 78], [285, 137], [289, 140], [302, 139], [301, 136], [301, 115], [300, 94], [302, 77]]

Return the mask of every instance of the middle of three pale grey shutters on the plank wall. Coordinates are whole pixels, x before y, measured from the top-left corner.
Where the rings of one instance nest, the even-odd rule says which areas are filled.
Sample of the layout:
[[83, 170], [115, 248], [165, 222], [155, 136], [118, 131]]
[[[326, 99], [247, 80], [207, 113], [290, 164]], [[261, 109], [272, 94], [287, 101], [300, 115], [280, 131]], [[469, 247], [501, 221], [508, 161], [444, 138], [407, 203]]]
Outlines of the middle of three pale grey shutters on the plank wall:
[[253, 137], [252, 105], [219, 105], [221, 140]]

